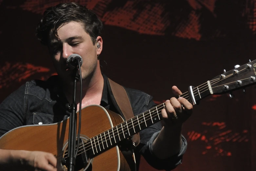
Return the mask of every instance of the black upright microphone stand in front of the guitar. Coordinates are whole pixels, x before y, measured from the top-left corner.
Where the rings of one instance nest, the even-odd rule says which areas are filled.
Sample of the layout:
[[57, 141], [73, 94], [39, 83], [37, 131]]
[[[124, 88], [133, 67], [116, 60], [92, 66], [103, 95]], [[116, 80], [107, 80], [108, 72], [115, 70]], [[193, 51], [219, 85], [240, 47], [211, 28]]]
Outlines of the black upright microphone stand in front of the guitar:
[[[80, 63], [80, 61], [78, 62]], [[79, 80], [79, 70], [76, 67], [73, 69], [74, 85], [73, 85], [73, 102], [71, 106], [69, 104], [66, 105], [68, 111], [70, 112], [69, 117], [69, 142], [68, 142], [68, 158], [62, 159], [62, 164], [68, 167], [68, 171], [73, 171], [75, 168], [75, 146], [76, 146], [76, 121], [77, 121], [77, 104], [76, 104], [76, 83]], [[80, 80], [81, 81], [81, 80]], [[78, 148], [78, 146], [77, 146]]]

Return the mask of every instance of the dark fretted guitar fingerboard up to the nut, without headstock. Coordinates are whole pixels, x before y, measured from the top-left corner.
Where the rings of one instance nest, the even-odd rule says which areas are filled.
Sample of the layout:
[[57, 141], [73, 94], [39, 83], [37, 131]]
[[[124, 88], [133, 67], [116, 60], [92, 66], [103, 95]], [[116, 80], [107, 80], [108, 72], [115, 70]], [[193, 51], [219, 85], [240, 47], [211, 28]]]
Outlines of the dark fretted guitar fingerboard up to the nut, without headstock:
[[[204, 91], [200, 96], [195, 96], [195, 98], [199, 100], [209, 94], [209, 90]], [[188, 92], [181, 94], [180, 96], [190, 100]], [[96, 155], [103, 149], [107, 150], [117, 145], [120, 141], [127, 139], [141, 130], [159, 122], [162, 120], [161, 110], [164, 108], [165, 103], [162, 103], [91, 138], [89, 140], [91, 142], [91, 154]]]

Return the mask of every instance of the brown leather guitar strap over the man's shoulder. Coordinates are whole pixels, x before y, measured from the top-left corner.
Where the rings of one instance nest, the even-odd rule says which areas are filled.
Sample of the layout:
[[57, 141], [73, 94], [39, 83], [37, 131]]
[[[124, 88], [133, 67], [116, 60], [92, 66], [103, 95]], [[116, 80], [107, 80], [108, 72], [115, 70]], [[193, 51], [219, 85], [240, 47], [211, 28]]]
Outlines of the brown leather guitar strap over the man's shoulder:
[[[122, 111], [126, 120], [133, 118], [134, 114], [131, 108], [131, 104], [128, 98], [128, 95], [123, 86], [117, 84], [116, 82], [112, 81], [108, 78], [110, 88], [114, 95], [117, 105], [119, 106], [120, 110]], [[137, 146], [140, 143], [140, 135], [139, 133], [133, 135], [132, 143], [134, 146]]]

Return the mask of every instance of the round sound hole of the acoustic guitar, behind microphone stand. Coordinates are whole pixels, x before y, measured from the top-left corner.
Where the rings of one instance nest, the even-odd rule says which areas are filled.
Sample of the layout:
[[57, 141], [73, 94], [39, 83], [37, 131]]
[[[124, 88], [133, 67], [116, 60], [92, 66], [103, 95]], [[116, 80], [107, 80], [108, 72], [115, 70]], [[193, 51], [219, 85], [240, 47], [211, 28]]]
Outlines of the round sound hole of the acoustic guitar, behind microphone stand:
[[[91, 171], [92, 170], [92, 165], [91, 162], [92, 160], [89, 158], [89, 151], [87, 148], [87, 144], [86, 144], [86, 140], [89, 138], [85, 138], [85, 137], [80, 137], [79, 140], [79, 149], [78, 149], [78, 153], [76, 156], [76, 162], [75, 162], [75, 171]], [[77, 144], [77, 142], [76, 142]], [[77, 146], [76, 146], [77, 148]], [[66, 143], [65, 147], [64, 147], [64, 154], [63, 157], [66, 158], [68, 157], [68, 142]], [[67, 170], [67, 165], [62, 165], [63, 170]]]

